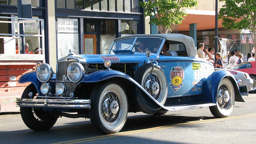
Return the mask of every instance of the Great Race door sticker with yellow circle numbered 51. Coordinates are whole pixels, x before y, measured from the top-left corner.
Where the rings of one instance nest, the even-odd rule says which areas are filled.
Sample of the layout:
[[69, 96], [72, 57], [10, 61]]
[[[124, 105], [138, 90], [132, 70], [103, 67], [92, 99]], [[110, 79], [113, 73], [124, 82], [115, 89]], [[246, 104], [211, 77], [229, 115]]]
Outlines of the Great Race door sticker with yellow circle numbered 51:
[[172, 67], [170, 72], [171, 82], [170, 86], [177, 92], [183, 86], [183, 79], [184, 79], [184, 68], [181, 66]]

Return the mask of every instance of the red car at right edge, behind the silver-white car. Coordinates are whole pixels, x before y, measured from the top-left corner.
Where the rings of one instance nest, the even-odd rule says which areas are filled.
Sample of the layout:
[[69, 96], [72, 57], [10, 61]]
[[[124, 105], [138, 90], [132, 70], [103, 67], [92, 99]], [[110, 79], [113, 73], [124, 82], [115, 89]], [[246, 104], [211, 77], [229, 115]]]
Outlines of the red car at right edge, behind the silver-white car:
[[253, 80], [253, 88], [250, 92], [256, 92], [256, 61], [243, 62], [234, 66], [233, 68], [229, 68], [229, 70], [237, 70], [248, 73], [250, 78]]

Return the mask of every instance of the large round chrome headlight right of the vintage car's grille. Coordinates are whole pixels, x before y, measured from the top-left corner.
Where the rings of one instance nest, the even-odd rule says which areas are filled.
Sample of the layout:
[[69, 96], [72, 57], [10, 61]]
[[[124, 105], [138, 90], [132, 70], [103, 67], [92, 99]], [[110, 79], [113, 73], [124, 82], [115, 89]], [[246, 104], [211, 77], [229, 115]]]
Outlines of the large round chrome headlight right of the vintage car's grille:
[[78, 62], [68, 66], [68, 78], [71, 82], [78, 82], [84, 77], [84, 67]]

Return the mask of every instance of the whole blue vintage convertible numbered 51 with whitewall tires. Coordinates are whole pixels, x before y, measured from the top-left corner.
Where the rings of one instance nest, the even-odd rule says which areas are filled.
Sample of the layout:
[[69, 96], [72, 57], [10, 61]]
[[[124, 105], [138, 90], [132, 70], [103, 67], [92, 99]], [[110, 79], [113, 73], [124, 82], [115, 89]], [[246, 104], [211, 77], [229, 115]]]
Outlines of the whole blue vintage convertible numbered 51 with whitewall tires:
[[70, 52], [58, 60], [56, 73], [49, 64], [38, 64], [19, 82], [31, 82], [17, 105], [35, 131], [48, 130], [65, 116], [90, 118], [99, 132], [113, 134], [128, 112], [162, 115], [208, 106], [224, 118], [235, 101], [244, 102], [234, 76], [198, 58], [194, 40], [182, 34], [120, 37], [107, 55]]

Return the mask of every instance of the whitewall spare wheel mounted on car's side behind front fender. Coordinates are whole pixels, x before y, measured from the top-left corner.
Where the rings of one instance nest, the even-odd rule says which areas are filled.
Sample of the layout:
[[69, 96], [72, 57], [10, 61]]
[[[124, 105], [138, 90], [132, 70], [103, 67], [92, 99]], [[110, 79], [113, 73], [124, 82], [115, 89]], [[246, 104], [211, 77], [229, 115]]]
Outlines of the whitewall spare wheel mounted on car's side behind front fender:
[[[143, 64], [135, 72], [134, 80], [160, 104], [164, 105], [167, 97], [168, 86], [164, 71], [152, 63]], [[155, 115], [166, 114], [167, 111], [158, 111]]]

